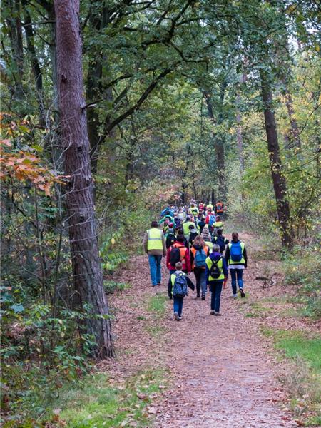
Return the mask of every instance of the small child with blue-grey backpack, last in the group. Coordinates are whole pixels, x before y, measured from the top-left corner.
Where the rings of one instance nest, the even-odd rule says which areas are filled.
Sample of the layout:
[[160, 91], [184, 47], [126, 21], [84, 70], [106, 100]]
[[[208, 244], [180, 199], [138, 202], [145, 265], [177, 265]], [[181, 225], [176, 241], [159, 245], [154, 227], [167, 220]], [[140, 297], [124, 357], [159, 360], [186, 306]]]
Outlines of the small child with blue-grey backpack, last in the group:
[[188, 295], [188, 289], [195, 290], [195, 286], [190, 278], [182, 272], [182, 263], [175, 264], [175, 270], [168, 280], [168, 297], [173, 298], [173, 310], [176, 321], [182, 319], [184, 297]]

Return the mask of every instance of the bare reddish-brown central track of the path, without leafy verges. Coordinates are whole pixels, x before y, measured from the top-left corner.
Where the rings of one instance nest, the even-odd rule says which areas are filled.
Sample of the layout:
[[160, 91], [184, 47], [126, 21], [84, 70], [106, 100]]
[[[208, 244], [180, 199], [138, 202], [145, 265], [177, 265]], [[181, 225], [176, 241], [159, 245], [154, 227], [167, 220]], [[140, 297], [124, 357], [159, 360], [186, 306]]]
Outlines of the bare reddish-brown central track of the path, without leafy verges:
[[[250, 282], [255, 274], [254, 269], [246, 270], [245, 292], [255, 287]], [[168, 321], [174, 382], [159, 404], [156, 426], [296, 427], [289, 414], [277, 408], [285, 396], [275, 380], [267, 344], [231, 297], [230, 279], [221, 312], [221, 317], [210, 315], [210, 292], [205, 301], [190, 292], [183, 320]]]

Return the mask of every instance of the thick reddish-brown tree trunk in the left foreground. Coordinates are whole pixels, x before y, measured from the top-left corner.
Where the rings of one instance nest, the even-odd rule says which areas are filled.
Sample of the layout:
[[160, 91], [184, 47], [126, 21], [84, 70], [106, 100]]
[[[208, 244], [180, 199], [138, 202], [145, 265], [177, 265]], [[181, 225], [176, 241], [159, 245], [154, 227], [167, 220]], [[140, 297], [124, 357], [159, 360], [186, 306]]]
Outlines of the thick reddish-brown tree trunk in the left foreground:
[[96, 337], [96, 357], [113, 356], [111, 321], [103, 291], [103, 274], [98, 254], [98, 239], [93, 204], [93, 180], [89, 158], [86, 111], [83, 99], [79, 0], [55, 0], [58, 100], [61, 141], [65, 151], [68, 178], [66, 215], [73, 283], [90, 308], [86, 332]]

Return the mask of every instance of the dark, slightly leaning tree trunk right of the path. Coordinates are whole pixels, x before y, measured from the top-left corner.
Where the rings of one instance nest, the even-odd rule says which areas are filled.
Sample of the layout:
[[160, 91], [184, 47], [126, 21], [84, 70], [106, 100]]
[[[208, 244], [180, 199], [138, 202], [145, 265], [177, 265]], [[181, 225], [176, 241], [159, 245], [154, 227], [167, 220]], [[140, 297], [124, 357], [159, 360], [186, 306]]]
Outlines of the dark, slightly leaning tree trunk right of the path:
[[265, 131], [267, 136], [267, 149], [270, 158], [273, 188], [277, 205], [277, 216], [280, 223], [282, 245], [290, 248], [292, 245], [292, 227], [290, 218], [290, 205], [287, 201], [287, 183], [282, 174], [282, 161], [280, 146], [277, 140], [275, 114], [272, 107], [272, 91], [265, 71], [260, 70]]

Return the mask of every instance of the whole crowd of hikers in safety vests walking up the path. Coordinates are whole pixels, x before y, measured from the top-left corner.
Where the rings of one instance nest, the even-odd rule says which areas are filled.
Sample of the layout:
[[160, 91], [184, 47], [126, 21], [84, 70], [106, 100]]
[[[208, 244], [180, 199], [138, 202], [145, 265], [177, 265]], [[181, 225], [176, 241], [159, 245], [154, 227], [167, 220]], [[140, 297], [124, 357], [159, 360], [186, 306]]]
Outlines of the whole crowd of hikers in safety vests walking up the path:
[[211, 292], [210, 314], [219, 316], [220, 295], [230, 271], [233, 297], [237, 290], [245, 297], [243, 270], [247, 267], [245, 244], [233, 232], [229, 241], [223, 235], [225, 206], [203, 201], [190, 206], [168, 206], [161, 212], [161, 220], [153, 220], [146, 230], [143, 248], [148, 254], [153, 287], [161, 285], [161, 260], [166, 258], [169, 270], [168, 297], [173, 299], [175, 320], [182, 318], [183, 299], [188, 287], [195, 290], [188, 274], [193, 272], [196, 298], [205, 300]]

